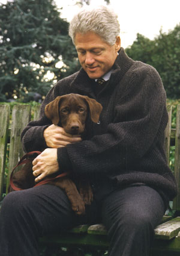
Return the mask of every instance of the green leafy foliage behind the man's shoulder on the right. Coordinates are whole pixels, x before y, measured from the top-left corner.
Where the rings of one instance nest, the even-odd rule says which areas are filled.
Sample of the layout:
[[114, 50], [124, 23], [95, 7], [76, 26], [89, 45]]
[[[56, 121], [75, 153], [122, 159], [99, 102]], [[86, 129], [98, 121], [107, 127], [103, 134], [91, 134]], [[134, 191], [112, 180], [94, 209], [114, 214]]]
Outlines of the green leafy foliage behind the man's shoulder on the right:
[[125, 51], [134, 60], [154, 66], [160, 73], [167, 96], [180, 98], [180, 24], [167, 34], [160, 30], [154, 40], [137, 34], [136, 41]]

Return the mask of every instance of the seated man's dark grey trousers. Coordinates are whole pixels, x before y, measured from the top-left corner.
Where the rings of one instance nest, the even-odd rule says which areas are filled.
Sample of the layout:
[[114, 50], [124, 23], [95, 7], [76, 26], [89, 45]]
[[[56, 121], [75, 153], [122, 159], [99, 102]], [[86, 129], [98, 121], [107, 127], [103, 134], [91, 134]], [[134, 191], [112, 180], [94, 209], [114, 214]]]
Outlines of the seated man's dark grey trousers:
[[74, 214], [58, 187], [43, 185], [11, 192], [2, 203], [0, 255], [37, 256], [38, 237], [80, 223], [103, 222], [110, 256], [148, 256], [154, 228], [165, 210], [160, 194], [145, 185], [116, 189], [108, 195], [101, 195], [102, 191], [100, 187], [95, 192], [82, 217]]

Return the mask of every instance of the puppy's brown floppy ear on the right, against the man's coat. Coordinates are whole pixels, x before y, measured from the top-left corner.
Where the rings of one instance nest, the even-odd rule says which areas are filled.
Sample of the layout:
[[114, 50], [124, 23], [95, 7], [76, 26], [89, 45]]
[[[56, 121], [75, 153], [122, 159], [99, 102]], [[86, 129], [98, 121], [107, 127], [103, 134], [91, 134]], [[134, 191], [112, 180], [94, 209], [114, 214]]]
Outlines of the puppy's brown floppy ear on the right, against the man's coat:
[[103, 110], [102, 105], [99, 102], [95, 101], [95, 99], [91, 99], [88, 96], [83, 96], [83, 98], [89, 105], [92, 122], [97, 123], [100, 119], [101, 111]]

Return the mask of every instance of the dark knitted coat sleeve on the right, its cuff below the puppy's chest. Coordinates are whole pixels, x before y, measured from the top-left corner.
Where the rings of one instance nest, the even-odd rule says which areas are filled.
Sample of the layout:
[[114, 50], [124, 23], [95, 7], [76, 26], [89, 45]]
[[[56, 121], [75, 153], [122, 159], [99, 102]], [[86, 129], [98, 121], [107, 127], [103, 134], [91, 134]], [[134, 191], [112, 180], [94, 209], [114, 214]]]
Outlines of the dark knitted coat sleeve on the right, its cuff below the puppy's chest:
[[116, 95], [113, 122], [107, 133], [58, 149], [62, 171], [113, 172], [130, 168], [154, 147], [163, 150], [167, 125], [166, 93], [151, 66], [134, 70], [123, 95]]

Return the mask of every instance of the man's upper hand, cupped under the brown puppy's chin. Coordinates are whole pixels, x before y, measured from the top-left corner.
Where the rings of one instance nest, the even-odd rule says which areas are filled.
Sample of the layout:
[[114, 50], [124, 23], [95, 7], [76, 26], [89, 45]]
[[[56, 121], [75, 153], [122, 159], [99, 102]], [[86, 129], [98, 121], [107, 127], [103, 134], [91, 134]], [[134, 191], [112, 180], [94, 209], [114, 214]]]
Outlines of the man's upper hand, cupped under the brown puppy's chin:
[[50, 125], [44, 130], [44, 139], [49, 148], [61, 148], [69, 143], [80, 142], [80, 137], [65, 133], [62, 127]]

